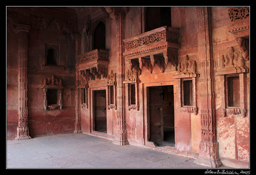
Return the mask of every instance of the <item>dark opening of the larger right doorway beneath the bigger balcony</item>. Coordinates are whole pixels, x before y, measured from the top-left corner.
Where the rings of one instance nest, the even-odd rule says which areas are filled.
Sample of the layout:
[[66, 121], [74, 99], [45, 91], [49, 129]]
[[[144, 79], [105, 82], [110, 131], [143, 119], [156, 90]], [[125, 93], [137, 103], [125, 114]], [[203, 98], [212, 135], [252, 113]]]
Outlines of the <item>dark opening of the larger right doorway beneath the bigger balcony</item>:
[[173, 85], [149, 87], [149, 141], [175, 147]]

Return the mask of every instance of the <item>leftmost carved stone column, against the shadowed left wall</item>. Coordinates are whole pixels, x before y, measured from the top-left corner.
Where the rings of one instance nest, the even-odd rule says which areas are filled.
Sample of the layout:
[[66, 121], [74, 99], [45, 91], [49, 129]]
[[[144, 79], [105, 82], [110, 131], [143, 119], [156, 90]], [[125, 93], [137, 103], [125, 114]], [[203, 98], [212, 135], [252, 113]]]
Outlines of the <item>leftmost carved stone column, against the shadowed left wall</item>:
[[31, 139], [27, 125], [27, 35], [29, 29], [29, 25], [17, 25], [19, 32], [19, 121], [16, 140]]

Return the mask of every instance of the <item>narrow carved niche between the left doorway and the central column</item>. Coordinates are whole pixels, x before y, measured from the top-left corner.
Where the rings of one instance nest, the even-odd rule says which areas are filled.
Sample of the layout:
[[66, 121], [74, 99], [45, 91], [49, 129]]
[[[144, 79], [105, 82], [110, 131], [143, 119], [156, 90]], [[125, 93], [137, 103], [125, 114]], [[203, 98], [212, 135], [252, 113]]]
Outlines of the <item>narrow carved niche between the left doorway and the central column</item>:
[[111, 73], [107, 75], [107, 108], [116, 110], [117, 100], [116, 100], [116, 73]]

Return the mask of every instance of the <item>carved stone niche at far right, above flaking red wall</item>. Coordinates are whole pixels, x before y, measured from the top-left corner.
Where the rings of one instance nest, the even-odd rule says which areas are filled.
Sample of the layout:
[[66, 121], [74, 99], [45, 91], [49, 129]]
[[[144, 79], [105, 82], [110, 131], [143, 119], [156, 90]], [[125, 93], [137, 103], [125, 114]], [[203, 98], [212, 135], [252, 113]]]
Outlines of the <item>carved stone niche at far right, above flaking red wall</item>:
[[216, 75], [220, 76], [222, 116], [246, 117], [246, 73], [243, 52], [238, 47], [226, 48], [219, 57]]

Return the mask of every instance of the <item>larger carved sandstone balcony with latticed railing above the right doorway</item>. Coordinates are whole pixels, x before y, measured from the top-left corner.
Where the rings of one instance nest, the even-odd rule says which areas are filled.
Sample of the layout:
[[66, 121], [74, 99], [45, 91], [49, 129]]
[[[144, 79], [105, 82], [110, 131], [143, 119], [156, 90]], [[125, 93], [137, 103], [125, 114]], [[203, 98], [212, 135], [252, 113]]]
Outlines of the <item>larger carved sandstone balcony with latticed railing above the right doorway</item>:
[[129, 65], [130, 60], [138, 59], [140, 69], [145, 66], [151, 72], [155, 65], [163, 72], [168, 63], [176, 67], [178, 41], [179, 29], [166, 26], [124, 39], [126, 63]]

